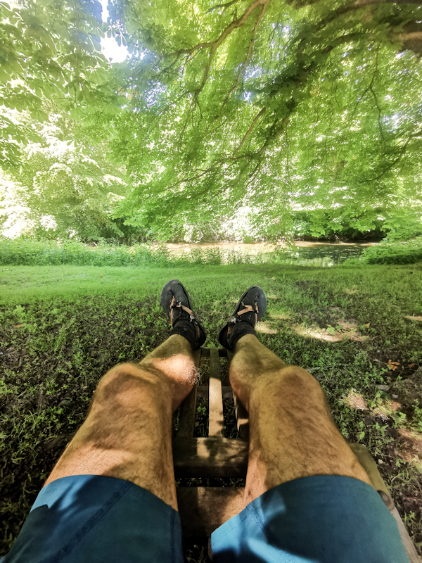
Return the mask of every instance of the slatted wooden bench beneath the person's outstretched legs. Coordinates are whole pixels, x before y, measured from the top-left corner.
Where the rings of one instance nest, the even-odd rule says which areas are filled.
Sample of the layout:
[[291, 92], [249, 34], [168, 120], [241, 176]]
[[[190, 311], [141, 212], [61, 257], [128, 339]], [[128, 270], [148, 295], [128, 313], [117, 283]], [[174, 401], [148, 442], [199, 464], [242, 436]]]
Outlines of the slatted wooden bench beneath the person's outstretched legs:
[[[196, 365], [204, 358], [210, 362], [210, 383], [195, 386], [181, 405], [179, 427], [173, 439], [176, 479], [198, 477], [245, 478], [248, 467], [248, 412], [234, 395], [229, 381], [222, 386], [221, 360], [231, 361], [225, 348], [200, 348], [195, 352]], [[208, 361], [208, 360], [206, 360]], [[208, 398], [209, 431], [207, 438], [194, 438], [198, 397]], [[223, 398], [234, 399], [239, 438], [224, 436]], [[411, 563], [421, 563], [402, 519], [392, 501], [376, 462], [363, 444], [349, 444], [366, 470], [392, 516], [397, 521], [404, 548]], [[179, 486], [177, 500], [185, 538], [210, 537], [212, 531], [243, 509], [243, 487]]]

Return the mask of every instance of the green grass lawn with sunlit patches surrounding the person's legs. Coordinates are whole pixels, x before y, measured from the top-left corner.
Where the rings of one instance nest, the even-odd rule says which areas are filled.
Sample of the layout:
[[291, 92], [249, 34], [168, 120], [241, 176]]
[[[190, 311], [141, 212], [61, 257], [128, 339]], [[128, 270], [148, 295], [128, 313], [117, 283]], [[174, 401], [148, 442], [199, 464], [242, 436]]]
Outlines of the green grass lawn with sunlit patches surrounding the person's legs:
[[260, 340], [318, 379], [343, 436], [378, 462], [422, 553], [421, 264], [0, 267], [0, 553], [82, 423], [98, 379], [169, 334], [160, 291], [174, 277], [188, 288], [206, 346], [218, 346], [244, 289], [262, 286]]

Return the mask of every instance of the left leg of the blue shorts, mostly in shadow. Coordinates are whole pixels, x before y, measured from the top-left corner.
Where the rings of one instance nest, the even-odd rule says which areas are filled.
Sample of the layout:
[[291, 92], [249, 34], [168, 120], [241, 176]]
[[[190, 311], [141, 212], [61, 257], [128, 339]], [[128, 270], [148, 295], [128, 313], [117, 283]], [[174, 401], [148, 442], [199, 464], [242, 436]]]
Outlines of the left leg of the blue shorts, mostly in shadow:
[[129, 481], [77, 475], [41, 490], [2, 563], [182, 563], [179, 513]]

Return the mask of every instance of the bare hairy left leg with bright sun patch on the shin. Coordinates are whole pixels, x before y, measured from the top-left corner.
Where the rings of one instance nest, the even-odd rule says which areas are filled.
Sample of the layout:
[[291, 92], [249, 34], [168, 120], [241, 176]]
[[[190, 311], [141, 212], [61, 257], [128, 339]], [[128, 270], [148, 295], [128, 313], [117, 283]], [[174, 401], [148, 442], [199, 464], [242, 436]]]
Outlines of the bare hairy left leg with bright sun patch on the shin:
[[110, 369], [98, 383], [87, 419], [45, 484], [70, 475], [117, 477], [177, 510], [172, 414], [195, 379], [191, 345], [179, 334], [139, 364]]

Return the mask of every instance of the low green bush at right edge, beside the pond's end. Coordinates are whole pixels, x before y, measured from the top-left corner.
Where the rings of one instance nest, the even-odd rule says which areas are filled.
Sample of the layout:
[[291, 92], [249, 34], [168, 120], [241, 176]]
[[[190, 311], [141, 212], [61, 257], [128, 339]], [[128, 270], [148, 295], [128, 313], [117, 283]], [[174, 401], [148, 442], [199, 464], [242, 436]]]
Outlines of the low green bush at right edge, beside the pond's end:
[[[366, 248], [360, 258], [364, 264], [414, 264], [422, 262], [422, 236], [406, 242], [383, 242]], [[346, 260], [347, 264], [348, 260]]]

